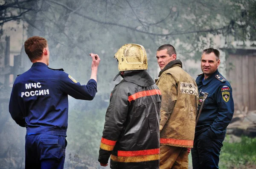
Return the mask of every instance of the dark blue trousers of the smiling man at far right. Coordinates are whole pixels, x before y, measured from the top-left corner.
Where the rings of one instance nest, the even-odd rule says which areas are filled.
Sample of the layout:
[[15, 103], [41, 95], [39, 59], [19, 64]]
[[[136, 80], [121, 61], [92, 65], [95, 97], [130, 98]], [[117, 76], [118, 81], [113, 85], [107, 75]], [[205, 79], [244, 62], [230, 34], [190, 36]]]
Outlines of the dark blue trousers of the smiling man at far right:
[[211, 129], [195, 136], [191, 149], [193, 169], [218, 169], [222, 142], [226, 132], [215, 135]]

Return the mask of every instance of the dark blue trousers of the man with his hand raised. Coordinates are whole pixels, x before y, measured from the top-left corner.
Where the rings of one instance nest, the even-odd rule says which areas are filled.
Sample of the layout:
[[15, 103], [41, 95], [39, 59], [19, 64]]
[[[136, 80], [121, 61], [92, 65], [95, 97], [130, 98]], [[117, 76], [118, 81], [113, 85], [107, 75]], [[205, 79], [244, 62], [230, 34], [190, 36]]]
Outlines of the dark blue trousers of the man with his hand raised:
[[66, 146], [64, 136], [26, 135], [25, 169], [63, 169]]

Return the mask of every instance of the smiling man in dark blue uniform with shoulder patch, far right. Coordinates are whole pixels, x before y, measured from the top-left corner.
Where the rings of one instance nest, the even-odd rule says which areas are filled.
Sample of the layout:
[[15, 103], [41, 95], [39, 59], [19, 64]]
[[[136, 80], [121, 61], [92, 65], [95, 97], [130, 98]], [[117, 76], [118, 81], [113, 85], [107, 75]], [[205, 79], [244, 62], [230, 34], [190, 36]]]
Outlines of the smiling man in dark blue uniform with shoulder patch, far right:
[[198, 110], [204, 93], [208, 93], [208, 96], [195, 128], [194, 148], [192, 148], [194, 169], [218, 169], [222, 142], [234, 113], [232, 88], [218, 72], [219, 55], [218, 50], [208, 48], [201, 56], [203, 73], [196, 79], [199, 91]]

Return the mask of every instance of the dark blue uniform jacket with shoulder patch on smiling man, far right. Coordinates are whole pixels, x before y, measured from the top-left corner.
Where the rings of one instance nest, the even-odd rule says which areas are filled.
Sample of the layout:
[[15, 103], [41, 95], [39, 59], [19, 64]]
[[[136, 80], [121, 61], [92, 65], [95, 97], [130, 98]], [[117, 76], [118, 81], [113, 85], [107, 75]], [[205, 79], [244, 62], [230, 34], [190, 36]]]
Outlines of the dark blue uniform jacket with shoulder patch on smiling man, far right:
[[196, 135], [211, 129], [212, 136], [226, 132], [234, 113], [234, 101], [230, 83], [223, 78], [218, 69], [203, 81], [204, 74], [196, 79], [199, 91], [198, 110], [204, 93], [209, 93], [195, 129]]

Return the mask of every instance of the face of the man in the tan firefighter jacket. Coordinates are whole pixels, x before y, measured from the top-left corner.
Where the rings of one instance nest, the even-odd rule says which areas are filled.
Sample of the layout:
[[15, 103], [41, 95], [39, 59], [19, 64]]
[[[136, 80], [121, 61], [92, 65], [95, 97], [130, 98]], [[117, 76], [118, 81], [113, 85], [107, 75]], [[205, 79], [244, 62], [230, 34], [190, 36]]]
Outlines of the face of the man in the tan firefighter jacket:
[[164, 67], [166, 67], [166, 65], [175, 60], [176, 59], [176, 54], [172, 54], [172, 56], [170, 56], [169, 54], [167, 54], [167, 49], [161, 50], [161, 51], [157, 51], [157, 63], [160, 67], [160, 70], [163, 70]]

